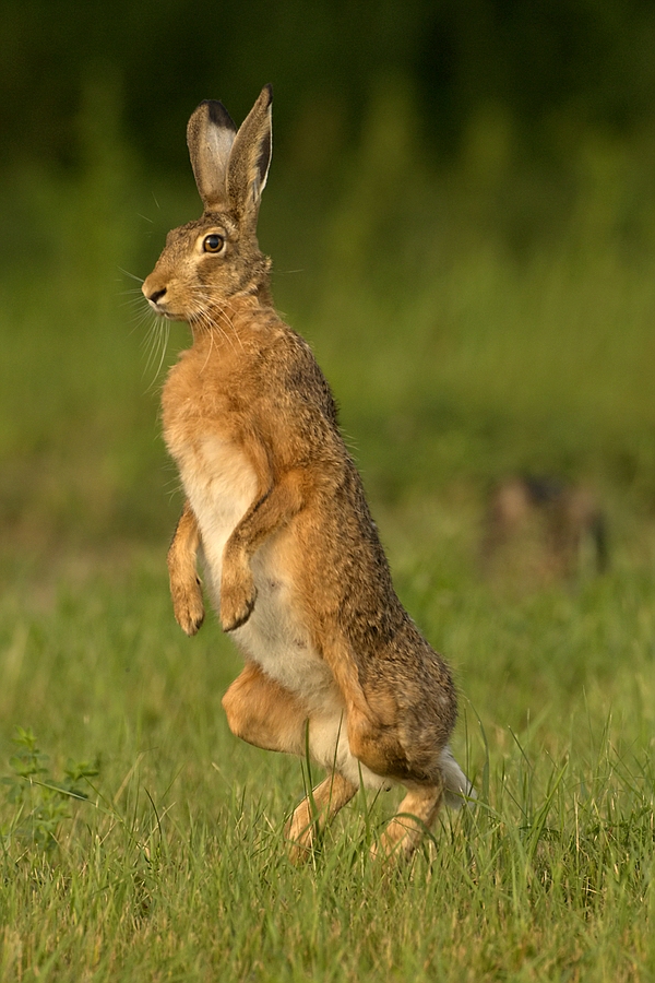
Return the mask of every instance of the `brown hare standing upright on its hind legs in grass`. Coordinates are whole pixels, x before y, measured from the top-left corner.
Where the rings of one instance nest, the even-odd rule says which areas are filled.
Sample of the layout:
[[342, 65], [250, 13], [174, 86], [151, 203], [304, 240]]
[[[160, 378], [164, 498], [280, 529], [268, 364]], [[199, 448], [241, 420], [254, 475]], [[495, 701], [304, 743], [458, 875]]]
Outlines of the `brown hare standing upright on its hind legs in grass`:
[[272, 88], [237, 131], [201, 103], [187, 140], [201, 218], [168, 234], [143, 294], [193, 343], [163, 390], [166, 446], [187, 496], [168, 554], [175, 615], [203, 620], [195, 572], [245, 656], [223, 699], [234, 734], [327, 770], [285, 834], [296, 860], [358, 790], [407, 790], [373, 852], [409, 855], [442, 798], [473, 794], [449, 748], [444, 661], [401, 605], [332, 392], [273, 307], [257, 218]]

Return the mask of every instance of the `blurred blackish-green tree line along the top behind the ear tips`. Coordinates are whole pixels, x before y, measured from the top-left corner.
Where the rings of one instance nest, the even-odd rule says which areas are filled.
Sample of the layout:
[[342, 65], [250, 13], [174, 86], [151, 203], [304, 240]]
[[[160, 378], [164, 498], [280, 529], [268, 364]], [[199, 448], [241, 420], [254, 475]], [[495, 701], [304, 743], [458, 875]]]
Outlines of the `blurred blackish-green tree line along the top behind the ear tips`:
[[[398, 76], [434, 153], [456, 153], [485, 100], [538, 146], [553, 115], [650, 123], [654, 52], [652, 0], [3, 0], [0, 162], [74, 164], [75, 116], [96, 76], [120, 93], [130, 143], [163, 167], [179, 164], [201, 97], [240, 118], [266, 81], [281, 123], [331, 100], [353, 139], [371, 86]], [[290, 127], [279, 133], [284, 154]]]

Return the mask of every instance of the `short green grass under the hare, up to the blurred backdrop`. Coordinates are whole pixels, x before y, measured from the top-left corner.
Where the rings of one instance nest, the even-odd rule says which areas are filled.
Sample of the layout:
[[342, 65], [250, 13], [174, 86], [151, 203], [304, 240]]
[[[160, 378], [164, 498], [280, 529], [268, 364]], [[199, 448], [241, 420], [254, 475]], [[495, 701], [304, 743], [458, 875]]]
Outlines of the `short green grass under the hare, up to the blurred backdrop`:
[[49, 849], [50, 789], [0, 807], [2, 979], [655, 978], [653, 566], [619, 555], [603, 579], [510, 603], [457, 580], [445, 511], [383, 531], [453, 663], [480, 801], [400, 874], [367, 854], [400, 792], [358, 796], [307, 868], [288, 863], [303, 766], [229, 734], [238, 659], [213, 618], [181, 635], [163, 550], [105, 575], [5, 568], [4, 775], [15, 726], [50, 756], [46, 785], [69, 759], [99, 774], [76, 782], [87, 801], [57, 800]]

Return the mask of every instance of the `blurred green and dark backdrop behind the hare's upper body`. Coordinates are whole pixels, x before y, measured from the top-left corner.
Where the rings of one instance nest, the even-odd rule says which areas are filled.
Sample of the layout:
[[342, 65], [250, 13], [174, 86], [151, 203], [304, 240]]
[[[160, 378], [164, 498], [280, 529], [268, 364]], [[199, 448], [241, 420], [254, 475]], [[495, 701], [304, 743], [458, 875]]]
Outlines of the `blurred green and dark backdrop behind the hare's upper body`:
[[265, 82], [260, 242], [377, 513], [406, 507], [420, 538], [438, 507], [473, 562], [489, 487], [548, 474], [594, 487], [639, 547], [652, 2], [4, 0], [0, 31], [5, 555], [165, 546], [158, 390], [187, 335], [162, 352], [135, 277], [200, 212], [190, 112], [221, 98], [240, 122]]

